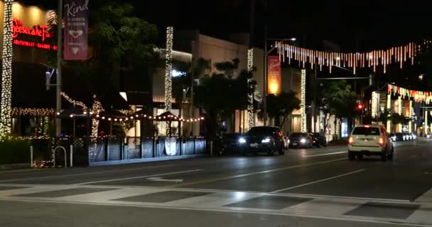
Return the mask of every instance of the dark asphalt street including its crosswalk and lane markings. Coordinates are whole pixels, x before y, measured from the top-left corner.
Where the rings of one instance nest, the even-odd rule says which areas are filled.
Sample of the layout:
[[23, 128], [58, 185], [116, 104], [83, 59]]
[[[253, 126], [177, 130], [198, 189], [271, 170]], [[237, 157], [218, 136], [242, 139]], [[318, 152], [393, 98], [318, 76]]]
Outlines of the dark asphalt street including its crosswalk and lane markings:
[[0, 172], [0, 226], [432, 226], [432, 141]]

